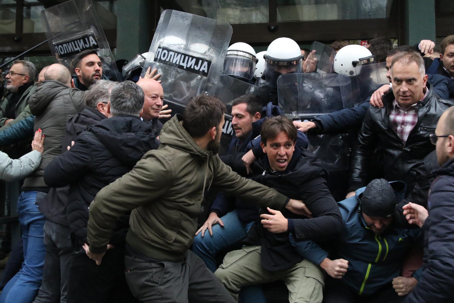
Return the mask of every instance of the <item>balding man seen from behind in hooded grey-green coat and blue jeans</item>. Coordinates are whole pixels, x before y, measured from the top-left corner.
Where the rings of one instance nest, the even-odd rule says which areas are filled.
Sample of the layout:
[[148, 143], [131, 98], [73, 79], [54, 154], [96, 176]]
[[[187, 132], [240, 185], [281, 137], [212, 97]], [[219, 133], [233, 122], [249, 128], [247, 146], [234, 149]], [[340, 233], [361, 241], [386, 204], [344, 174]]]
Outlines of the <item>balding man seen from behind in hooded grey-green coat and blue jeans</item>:
[[[66, 123], [74, 114], [84, 109], [84, 92], [70, 87], [71, 75], [61, 64], [50, 65], [44, 72], [44, 79], [31, 95], [29, 102], [31, 114], [35, 115], [34, 130], [41, 129], [46, 138], [44, 153], [39, 168], [25, 178], [18, 199], [20, 222], [26, 223], [21, 225], [25, 262], [20, 273], [5, 286], [0, 302], [32, 302], [43, 279], [44, 263], [54, 261], [55, 251], [58, 251], [59, 258], [65, 253], [72, 253], [69, 227], [65, 225], [67, 222], [46, 221], [49, 218], [46, 218], [38, 207], [45, 203], [49, 192], [43, 179], [44, 168], [61, 154]], [[53, 213], [56, 212], [58, 209], [54, 209]], [[44, 222], [47, 223], [44, 225]], [[57, 284], [59, 277], [60, 266], [46, 267], [44, 292], [40, 298], [49, 297], [50, 289]], [[60, 298], [60, 291], [56, 295]]]

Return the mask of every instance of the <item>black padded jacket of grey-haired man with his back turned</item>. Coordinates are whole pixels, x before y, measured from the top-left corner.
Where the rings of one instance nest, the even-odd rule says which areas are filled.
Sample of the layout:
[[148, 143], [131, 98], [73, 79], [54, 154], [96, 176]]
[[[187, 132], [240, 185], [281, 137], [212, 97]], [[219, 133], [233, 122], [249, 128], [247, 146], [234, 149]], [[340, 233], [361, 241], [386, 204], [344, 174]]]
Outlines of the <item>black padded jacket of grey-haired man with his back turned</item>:
[[[146, 152], [158, 147], [152, 124], [138, 118], [117, 116], [89, 126], [77, 136], [69, 151], [52, 161], [44, 171], [51, 187], [70, 184], [67, 214], [77, 250], [87, 243], [89, 205], [100, 189], [128, 173]], [[112, 244], [123, 244], [129, 215], [118, 220]]]

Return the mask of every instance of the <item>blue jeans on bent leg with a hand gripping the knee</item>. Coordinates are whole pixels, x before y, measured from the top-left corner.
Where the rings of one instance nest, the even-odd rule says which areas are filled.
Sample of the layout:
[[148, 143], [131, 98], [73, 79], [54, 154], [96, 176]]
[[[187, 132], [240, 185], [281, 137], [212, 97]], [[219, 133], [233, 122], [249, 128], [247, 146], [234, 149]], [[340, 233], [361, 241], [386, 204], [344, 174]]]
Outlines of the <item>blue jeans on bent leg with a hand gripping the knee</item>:
[[[238, 211], [235, 209], [225, 216], [221, 217], [224, 227], [219, 224], [213, 225], [213, 235], [210, 236], [208, 230], [202, 237], [199, 233], [194, 238], [192, 244], [192, 251], [202, 258], [203, 262], [207, 264], [207, 268], [213, 273], [216, 271], [216, 255], [225, 248], [231, 245], [240, 243], [251, 228], [254, 221], [243, 223], [238, 219]], [[265, 294], [262, 291], [261, 285], [250, 285], [243, 287], [240, 292], [240, 302], [260, 303], [266, 302]]]

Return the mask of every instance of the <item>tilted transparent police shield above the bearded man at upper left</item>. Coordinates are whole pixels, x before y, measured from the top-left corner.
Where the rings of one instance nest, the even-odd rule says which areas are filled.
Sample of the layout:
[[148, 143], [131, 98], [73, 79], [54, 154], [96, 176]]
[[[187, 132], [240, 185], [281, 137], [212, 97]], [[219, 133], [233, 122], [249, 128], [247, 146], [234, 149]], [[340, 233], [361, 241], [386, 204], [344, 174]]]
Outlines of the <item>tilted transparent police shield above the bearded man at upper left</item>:
[[41, 19], [52, 55], [72, 74], [74, 57], [83, 50], [96, 50], [103, 64], [103, 75], [114, 81], [121, 79], [91, 0], [69, 0], [49, 7], [41, 12]]

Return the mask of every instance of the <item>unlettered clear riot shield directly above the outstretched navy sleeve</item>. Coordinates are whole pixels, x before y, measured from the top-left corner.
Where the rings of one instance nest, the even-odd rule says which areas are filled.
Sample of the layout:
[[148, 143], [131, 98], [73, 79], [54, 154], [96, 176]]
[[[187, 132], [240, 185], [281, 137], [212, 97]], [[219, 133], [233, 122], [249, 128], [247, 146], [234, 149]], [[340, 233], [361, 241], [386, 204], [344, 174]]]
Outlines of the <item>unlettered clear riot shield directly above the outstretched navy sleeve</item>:
[[345, 75], [285, 74], [277, 79], [279, 108], [289, 119], [304, 120], [343, 109], [350, 90]]

